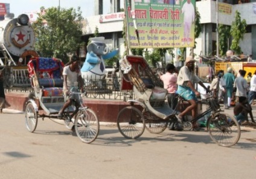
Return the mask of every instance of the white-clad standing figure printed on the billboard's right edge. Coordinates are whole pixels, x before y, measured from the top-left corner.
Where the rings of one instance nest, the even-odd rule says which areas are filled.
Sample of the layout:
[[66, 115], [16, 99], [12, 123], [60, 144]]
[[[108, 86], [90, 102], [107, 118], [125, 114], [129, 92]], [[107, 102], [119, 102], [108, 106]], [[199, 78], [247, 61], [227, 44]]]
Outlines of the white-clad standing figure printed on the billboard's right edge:
[[194, 23], [194, 16], [195, 16], [195, 11], [194, 11], [194, 6], [191, 3], [191, 0], [187, 0], [187, 2], [184, 3], [182, 7], [182, 14], [184, 14], [184, 37], [182, 38], [182, 44], [190, 44], [190, 31], [191, 31], [191, 26], [192, 23]]

